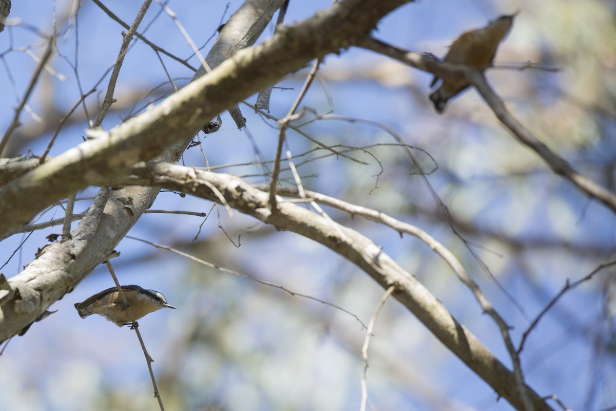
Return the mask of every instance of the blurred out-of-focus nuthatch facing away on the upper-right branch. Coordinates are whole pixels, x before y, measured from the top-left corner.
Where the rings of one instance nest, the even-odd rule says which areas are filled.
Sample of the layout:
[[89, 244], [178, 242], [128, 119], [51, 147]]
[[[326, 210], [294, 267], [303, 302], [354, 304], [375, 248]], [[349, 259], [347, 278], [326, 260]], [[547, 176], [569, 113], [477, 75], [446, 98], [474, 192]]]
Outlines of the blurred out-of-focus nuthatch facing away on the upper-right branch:
[[[485, 70], [490, 66], [498, 44], [505, 38], [516, 14], [501, 15], [484, 28], [471, 30], [458, 37], [450, 47], [445, 62], [461, 63], [471, 67]], [[439, 77], [434, 77], [430, 87], [434, 86]], [[461, 78], [444, 78], [443, 83], [436, 91], [430, 94], [430, 100], [434, 103], [434, 108], [440, 114], [445, 110], [447, 101], [456, 94], [464, 91], [471, 84]]]

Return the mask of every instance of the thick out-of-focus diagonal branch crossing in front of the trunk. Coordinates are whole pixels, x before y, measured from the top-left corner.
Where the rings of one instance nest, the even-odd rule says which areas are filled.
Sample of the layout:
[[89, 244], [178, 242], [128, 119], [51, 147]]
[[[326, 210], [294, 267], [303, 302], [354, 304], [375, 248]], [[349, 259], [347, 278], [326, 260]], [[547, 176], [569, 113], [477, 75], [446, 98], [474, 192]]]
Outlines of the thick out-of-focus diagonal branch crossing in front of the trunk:
[[137, 161], [160, 155], [236, 102], [348, 47], [408, 0], [344, 0], [315, 17], [282, 28], [263, 44], [238, 51], [147, 112], [88, 140], [6, 185], [0, 193], [0, 235], [88, 185], [105, 184]]

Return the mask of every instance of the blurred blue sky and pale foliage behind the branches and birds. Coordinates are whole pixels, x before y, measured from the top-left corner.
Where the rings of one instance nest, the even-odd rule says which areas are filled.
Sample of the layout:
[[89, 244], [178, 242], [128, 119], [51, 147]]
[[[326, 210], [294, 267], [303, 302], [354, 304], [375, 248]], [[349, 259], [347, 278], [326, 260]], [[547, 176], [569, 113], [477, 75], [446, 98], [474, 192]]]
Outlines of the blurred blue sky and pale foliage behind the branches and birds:
[[[105, 4], [128, 23], [140, 6], [123, 1]], [[216, 28], [241, 2], [168, 4], [207, 52]], [[291, 0], [287, 22], [330, 4]], [[423, 1], [400, 7], [374, 35], [405, 49], [444, 55], [463, 31], [519, 10], [488, 80], [527, 128], [575, 168], [615, 192], [615, 4]], [[103, 78], [98, 92], [87, 99], [87, 113], [76, 110], [51, 155], [79, 144], [88, 118], [102, 101], [108, 81], [105, 71], [120, 47], [123, 29], [90, 1], [41, 2], [37, 7], [14, 2], [6, 31], [0, 34], [1, 129], [7, 128], [36, 65], [31, 54], [41, 55], [41, 33], [54, 28], [54, 10], [61, 33], [50, 63], [56, 74], [47, 72], [41, 78], [30, 100], [32, 114], [22, 115], [23, 126], [11, 140], [11, 155], [28, 150], [40, 155], [60, 118], [78, 101], [79, 87], [88, 91]], [[270, 25], [263, 38], [273, 30]], [[157, 4], [139, 31], [173, 54], [191, 55]], [[178, 84], [186, 84], [192, 76], [184, 65], [166, 57], [163, 61]], [[529, 61], [560, 70], [511, 68]], [[194, 57], [189, 62], [198, 65]], [[274, 89], [270, 115], [286, 114], [306, 75], [302, 70], [277, 84], [291, 89]], [[310, 110], [295, 124], [325, 144], [339, 145], [339, 150], [347, 147], [347, 154], [367, 164], [336, 158], [290, 132], [288, 149], [304, 186], [428, 231], [479, 282], [513, 327], [516, 343], [567, 280], [581, 279], [614, 259], [614, 214], [549, 171], [535, 153], [501, 128], [475, 91], [450, 102], [439, 116], [427, 97], [430, 76], [361, 49], [328, 56], [318, 80], [304, 100]], [[116, 88], [117, 102], [103, 127], [112, 128], [170, 92], [156, 54], [142, 41], [134, 41]], [[248, 101], [253, 104], [254, 97]], [[246, 129], [238, 131], [223, 113], [221, 131], [208, 137], [201, 134], [201, 145], [187, 150], [182, 163], [204, 167], [205, 154], [209, 166], [266, 183], [264, 174], [272, 165], [263, 161], [274, 157], [277, 124], [246, 105], [241, 108], [248, 119]], [[397, 145], [398, 139], [411, 146], [421, 169]], [[281, 181], [293, 185], [286, 163], [283, 168]], [[453, 234], [426, 179], [452, 214], [461, 237]], [[85, 199], [75, 210], [86, 210], [91, 201], [87, 198], [95, 192], [91, 188], [79, 193]], [[206, 219], [145, 214], [129, 235], [336, 304], [366, 324], [383, 295], [357, 267], [298, 235], [277, 232], [237, 213], [231, 218], [224, 208], [176, 193], [161, 193], [152, 209], [209, 214]], [[375, 222], [325, 211], [383, 246], [509, 364], [498, 329], [428, 246], [415, 238], [400, 238]], [[57, 206], [42, 214], [39, 222], [62, 215]], [[44, 245], [44, 237], [59, 231], [54, 227], [4, 240], [0, 264], [7, 264], [1, 271], [7, 276], [20, 272]], [[140, 320], [166, 409], [359, 407], [365, 330], [352, 315], [131, 238], [117, 250], [121, 257], [113, 264], [122, 283], [160, 290], [178, 307]], [[111, 285], [105, 269], [97, 268], [52, 306], [57, 313], [9, 344], [0, 357], [0, 409], [156, 408], [144, 357], [132, 332], [100, 317], [81, 320], [73, 308]], [[609, 268], [566, 293], [533, 330], [522, 365], [538, 393], [554, 394], [571, 409], [614, 407], [615, 296], [614, 269]], [[393, 299], [381, 311], [374, 334], [368, 368], [373, 409], [511, 409]]]

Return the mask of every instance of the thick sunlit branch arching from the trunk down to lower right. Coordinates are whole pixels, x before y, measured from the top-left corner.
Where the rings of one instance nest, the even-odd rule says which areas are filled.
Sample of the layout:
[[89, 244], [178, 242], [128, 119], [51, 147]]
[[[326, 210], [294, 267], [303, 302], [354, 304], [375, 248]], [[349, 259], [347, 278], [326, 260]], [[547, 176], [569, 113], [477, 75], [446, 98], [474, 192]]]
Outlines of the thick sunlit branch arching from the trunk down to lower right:
[[[458, 323], [413, 275], [359, 232], [283, 198], [277, 199], [277, 211], [272, 213], [268, 206], [269, 193], [229, 174], [154, 162], [137, 165], [132, 173], [133, 176], [123, 180], [124, 184], [164, 187], [217, 203], [222, 203], [222, 195], [225, 203], [242, 213], [272, 224], [278, 230], [288, 230], [325, 245], [367, 272], [384, 290], [394, 285], [393, 295], [400, 303], [499, 396], [505, 397], [517, 410], [524, 410], [514, 373]], [[525, 388], [535, 410], [551, 409], [530, 387]]]

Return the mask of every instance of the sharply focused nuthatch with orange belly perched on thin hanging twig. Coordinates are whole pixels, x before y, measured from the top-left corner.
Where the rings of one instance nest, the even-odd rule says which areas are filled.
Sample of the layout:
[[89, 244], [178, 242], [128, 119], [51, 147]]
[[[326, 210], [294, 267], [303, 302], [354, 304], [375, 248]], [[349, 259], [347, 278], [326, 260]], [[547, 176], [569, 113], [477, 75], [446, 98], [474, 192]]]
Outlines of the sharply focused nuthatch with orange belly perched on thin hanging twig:
[[[167, 299], [158, 291], [146, 290], [139, 285], [122, 285], [121, 288], [135, 320], [164, 307], [175, 308], [167, 304]], [[115, 322], [118, 327], [132, 324], [128, 307], [124, 306], [117, 287], [107, 288], [87, 298], [83, 303], [75, 304], [81, 318], [99, 314]]]

